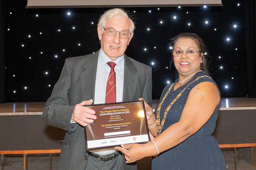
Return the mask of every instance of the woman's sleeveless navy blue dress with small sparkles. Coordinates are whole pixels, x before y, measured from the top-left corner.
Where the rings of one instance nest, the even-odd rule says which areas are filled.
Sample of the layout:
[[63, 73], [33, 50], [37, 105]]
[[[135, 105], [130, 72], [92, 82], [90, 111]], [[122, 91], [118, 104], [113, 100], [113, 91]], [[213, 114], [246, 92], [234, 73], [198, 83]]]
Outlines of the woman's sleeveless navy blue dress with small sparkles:
[[[189, 83], [193, 82], [197, 77], [204, 76], [203, 72], [198, 72], [194, 77], [189, 80], [185, 85], [177, 88], [173, 91], [173, 87], [167, 97], [165, 98], [161, 110], [160, 110], [160, 122], [162, 122], [164, 111], [172, 100], [182, 91]], [[178, 79], [175, 81], [175, 83]], [[208, 77], [199, 78], [194, 83], [190, 84], [185, 91], [181, 94], [180, 98], [170, 108], [164, 127], [161, 130], [170, 127], [172, 124], [180, 120], [182, 110], [188, 99], [190, 90], [197, 84], [210, 81], [216, 85], [216, 83]], [[167, 85], [161, 95], [160, 102], [162, 101], [165, 93], [168, 91], [171, 83]], [[217, 85], [216, 85], [217, 86]], [[218, 86], [217, 86], [218, 88]], [[218, 88], [219, 91], [219, 88]], [[220, 91], [219, 91], [220, 93]], [[159, 105], [159, 104], [158, 104]], [[156, 107], [157, 110], [158, 106]], [[223, 170], [226, 169], [225, 161], [212, 133], [216, 126], [216, 120], [218, 118], [218, 111], [220, 109], [220, 103], [214, 110], [211, 118], [199, 129], [194, 135], [188, 137], [185, 141], [177, 146], [160, 153], [156, 158], [152, 160], [153, 170]], [[155, 114], [156, 114], [155, 110]]]

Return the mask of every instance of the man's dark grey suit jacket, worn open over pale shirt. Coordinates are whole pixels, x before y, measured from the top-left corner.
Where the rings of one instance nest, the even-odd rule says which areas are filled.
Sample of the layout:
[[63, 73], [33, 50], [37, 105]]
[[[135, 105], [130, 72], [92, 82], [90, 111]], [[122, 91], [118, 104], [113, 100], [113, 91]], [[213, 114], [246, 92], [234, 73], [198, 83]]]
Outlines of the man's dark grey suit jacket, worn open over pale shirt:
[[[42, 115], [44, 122], [67, 131], [64, 140], [60, 141], [63, 143], [59, 164], [61, 170], [84, 170], [87, 164], [88, 152], [85, 152], [84, 128], [78, 123], [70, 125], [70, 119], [76, 104], [83, 100], [94, 100], [98, 57], [99, 51], [67, 58], [60, 78], [46, 101]], [[151, 67], [124, 55], [123, 101], [138, 100], [142, 97], [151, 105], [151, 93]]]

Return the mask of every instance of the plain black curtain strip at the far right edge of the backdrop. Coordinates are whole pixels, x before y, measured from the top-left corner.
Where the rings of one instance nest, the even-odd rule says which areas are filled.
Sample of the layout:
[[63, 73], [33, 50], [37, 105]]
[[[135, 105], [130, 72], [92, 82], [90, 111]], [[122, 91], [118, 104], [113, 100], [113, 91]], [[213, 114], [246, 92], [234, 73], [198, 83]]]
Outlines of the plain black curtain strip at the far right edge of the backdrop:
[[248, 97], [256, 97], [256, 1], [244, 0]]

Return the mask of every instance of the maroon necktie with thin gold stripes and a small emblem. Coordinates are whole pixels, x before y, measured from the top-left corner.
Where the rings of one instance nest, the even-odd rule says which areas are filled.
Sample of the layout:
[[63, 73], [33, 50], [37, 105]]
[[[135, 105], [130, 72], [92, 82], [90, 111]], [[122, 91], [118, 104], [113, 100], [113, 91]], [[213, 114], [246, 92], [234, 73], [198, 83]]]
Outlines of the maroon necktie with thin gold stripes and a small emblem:
[[115, 103], [116, 102], [116, 72], [114, 68], [116, 66], [116, 63], [108, 62], [107, 64], [111, 69], [108, 75], [105, 103]]

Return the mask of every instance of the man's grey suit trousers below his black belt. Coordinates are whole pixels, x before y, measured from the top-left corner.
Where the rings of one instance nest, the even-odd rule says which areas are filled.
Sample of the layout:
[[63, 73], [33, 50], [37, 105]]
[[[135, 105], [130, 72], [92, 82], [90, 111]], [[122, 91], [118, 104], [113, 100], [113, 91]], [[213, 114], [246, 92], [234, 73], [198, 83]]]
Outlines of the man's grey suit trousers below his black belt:
[[137, 170], [137, 165], [127, 165], [124, 156], [119, 154], [115, 159], [102, 161], [98, 158], [88, 155], [88, 161], [85, 170]]

